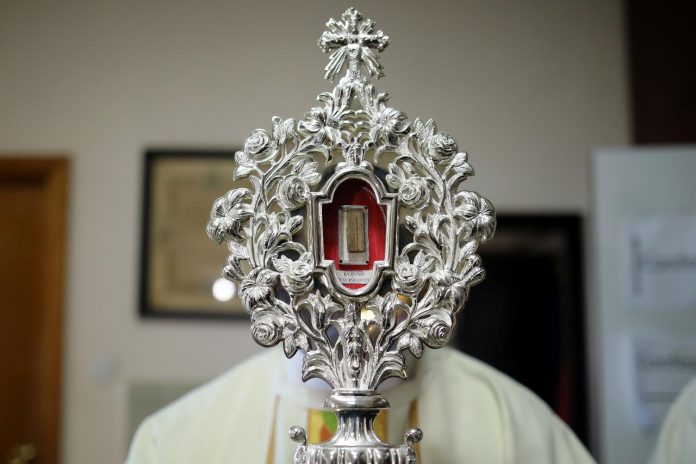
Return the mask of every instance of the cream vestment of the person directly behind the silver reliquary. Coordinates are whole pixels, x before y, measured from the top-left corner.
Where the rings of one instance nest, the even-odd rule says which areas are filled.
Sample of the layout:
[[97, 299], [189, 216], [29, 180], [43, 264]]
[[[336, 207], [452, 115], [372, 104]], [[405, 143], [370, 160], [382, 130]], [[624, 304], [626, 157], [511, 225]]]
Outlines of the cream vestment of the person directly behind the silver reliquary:
[[[290, 464], [297, 443], [288, 429], [323, 441], [331, 421], [321, 419], [333, 416], [320, 410], [328, 392], [290, 379], [287, 363], [269, 350], [149, 417], [127, 464]], [[422, 464], [594, 462], [533, 393], [452, 349], [426, 351], [414, 378], [382, 393], [391, 408], [378, 417], [378, 434], [402, 444], [406, 429], [422, 428]]]

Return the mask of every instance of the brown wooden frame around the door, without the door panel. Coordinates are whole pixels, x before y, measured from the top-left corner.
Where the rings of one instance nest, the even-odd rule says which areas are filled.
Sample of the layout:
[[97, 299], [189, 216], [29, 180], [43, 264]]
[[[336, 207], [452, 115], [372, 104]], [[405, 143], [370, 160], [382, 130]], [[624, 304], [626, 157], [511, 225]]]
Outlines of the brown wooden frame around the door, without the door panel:
[[[45, 388], [39, 409], [44, 413], [40, 434], [45, 462], [60, 461], [61, 399], [63, 378], [63, 313], [65, 305], [66, 248], [68, 219], [68, 170], [65, 155], [0, 155], [0, 182], [37, 182], [45, 189], [46, 202], [41, 208], [46, 220], [45, 253], [42, 269], [44, 317], [37, 330], [44, 343], [40, 354], [40, 379]], [[38, 212], [38, 211], [37, 211]], [[44, 462], [42, 459], [42, 462]]]

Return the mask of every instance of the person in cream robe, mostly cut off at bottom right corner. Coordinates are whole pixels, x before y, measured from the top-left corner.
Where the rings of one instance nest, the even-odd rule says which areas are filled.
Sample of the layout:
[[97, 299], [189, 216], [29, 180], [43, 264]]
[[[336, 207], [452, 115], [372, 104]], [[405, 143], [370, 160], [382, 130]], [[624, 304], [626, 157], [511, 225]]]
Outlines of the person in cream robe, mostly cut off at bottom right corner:
[[696, 379], [682, 390], [660, 429], [652, 464], [696, 462]]

